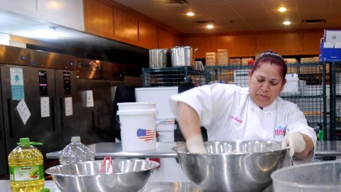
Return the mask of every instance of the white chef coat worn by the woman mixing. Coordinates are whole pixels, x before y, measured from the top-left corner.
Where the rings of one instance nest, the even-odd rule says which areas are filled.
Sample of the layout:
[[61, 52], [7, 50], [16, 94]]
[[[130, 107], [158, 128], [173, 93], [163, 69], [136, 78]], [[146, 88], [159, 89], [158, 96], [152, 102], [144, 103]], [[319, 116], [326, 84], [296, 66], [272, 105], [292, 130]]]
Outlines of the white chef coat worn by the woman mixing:
[[261, 110], [249, 95], [249, 87], [203, 85], [171, 97], [176, 116], [177, 102], [185, 102], [197, 112], [207, 129], [208, 141], [271, 140], [281, 142], [290, 131], [307, 134], [316, 146], [316, 134], [297, 105], [281, 97]]

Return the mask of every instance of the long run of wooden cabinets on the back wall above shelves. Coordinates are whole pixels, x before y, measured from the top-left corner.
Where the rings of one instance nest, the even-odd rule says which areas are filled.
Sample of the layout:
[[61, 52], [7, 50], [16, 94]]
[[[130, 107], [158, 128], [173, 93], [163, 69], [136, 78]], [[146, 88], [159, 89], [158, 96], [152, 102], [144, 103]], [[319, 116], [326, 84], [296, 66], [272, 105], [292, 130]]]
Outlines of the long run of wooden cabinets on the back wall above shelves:
[[198, 48], [196, 58], [205, 58], [206, 52], [226, 48], [232, 58], [254, 57], [264, 50], [281, 55], [318, 55], [323, 30], [298, 32], [259, 32], [231, 35], [195, 35], [181, 38], [182, 46]]

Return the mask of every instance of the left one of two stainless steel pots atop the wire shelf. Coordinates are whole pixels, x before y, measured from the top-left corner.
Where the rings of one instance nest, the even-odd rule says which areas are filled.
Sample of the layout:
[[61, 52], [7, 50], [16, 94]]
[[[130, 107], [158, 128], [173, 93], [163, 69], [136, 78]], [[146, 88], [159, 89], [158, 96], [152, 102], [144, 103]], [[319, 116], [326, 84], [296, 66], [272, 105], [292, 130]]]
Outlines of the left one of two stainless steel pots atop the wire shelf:
[[156, 48], [149, 50], [149, 68], [167, 67], [167, 48]]

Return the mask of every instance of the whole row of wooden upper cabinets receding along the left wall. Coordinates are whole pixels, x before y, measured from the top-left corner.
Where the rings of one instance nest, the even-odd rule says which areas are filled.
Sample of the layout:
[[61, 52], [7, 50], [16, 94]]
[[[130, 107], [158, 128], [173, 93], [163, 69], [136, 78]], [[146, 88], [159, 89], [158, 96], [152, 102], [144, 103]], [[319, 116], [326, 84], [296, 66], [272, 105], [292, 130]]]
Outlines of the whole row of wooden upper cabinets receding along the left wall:
[[176, 31], [162, 23], [114, 1], [83, 1], [87, 33], [148, 49], [180, 46], [180, 36], [174, 35]]

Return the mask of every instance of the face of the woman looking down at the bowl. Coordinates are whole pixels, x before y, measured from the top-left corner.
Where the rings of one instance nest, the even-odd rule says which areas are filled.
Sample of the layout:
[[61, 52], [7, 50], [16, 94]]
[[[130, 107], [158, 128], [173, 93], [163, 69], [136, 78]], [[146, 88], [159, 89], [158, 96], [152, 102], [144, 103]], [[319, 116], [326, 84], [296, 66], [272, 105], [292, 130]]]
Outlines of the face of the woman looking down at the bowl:
[[249, 70], [249, 92], [251, 100], [259, 107], [271, 105], [283, 90], [286, 81], [281, 77], [281, 68], [270, 63], [260, 63], [251, 75]]

